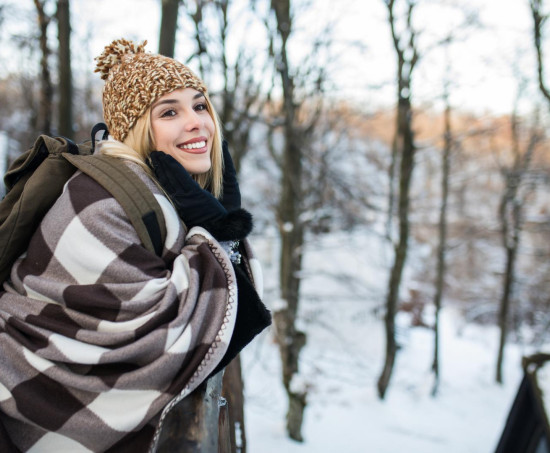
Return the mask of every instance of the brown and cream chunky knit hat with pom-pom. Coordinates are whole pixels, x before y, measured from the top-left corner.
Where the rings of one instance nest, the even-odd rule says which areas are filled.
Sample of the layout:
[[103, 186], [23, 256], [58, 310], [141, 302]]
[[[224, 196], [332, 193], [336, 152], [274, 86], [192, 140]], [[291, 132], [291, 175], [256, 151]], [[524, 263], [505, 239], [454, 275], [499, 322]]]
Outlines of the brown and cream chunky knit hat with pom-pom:
[[115, 140], [124, 141], [138, 118], [164, 94], [179, 88], [207, 93], [202, 80], [187, 66], [173, 58], [146, 53], [146, 44], [117, 39], [95, 59], [95, 72], [105, 80], [103, 116]]

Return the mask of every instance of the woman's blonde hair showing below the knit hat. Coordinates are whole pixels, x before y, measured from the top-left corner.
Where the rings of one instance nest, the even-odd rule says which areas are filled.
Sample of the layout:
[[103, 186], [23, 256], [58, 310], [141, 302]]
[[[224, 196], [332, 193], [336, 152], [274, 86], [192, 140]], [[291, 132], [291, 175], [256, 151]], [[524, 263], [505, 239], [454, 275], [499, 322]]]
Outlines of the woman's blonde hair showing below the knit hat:
[[[208, 188], [212, 195], [220, 198], [223, 192], [223, 153], [222, 153], [222, 134], [220, 120], [210, 98], [204, 95], [208, 113], [214, 121], [214, 136], [212, 141], [212, 150], [210, 152], [210, 170], [200, 175], [193, 175], [193, 179], [203, 188]], [[108, 140], [100, 142], [99, 153], [106, 156], [126, 159], [140, 165], [150, 175], [153, 172], [147, 165], [149, 154], [155, 151], [155, 140], [153, 137], [153, 128], [151, 126], [151, 109], [148, 108], [141, 115], [123, 142], [119, 142], [111, 137]]]

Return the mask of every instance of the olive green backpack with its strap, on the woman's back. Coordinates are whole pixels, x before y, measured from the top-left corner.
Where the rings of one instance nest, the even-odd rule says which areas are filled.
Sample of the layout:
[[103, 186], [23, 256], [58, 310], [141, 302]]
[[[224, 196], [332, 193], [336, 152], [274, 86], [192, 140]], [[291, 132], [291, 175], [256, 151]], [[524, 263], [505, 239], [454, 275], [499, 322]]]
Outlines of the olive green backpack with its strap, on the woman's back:
[[95, 135], [107, 127], [92, 129], [92, 140], [75, 144], [64, 137], [41, 135], [34, 146], [19, 156], [4, 176], [6, 196], [0, 202], [0, 282], [10, 274], [14, 261], [29, 241], [67, 180], [77, 171], [95, 179], [121, 204], [143, 245], [162, 253], [166, 225], [151, 190], [121, 159], [93, 155]]

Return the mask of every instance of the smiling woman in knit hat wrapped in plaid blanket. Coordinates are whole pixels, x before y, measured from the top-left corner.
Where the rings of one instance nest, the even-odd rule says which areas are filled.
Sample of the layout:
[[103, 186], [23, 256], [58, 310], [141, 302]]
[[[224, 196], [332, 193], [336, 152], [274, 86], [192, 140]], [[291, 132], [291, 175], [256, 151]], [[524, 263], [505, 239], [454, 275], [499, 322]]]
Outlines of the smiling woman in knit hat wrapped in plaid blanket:
[[206, 87], [144, 45], [97, 58], [99, 152], [155, 194], [163, 252], [93, 179], [67, 183], [0, 293], [1, 451], [154, 449], [167, 408], [271, 322]]

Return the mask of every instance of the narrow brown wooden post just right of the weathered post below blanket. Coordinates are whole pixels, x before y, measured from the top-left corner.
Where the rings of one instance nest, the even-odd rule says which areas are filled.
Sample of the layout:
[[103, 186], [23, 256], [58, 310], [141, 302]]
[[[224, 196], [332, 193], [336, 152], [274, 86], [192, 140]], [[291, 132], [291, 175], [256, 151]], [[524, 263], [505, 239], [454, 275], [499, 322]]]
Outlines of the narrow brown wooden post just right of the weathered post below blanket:
[[232, 453], [246, 453], [243, 388], [241, 358], [237, 356], [225, 368], [222, 388], [222, 395], [228, 403], [228, 424]]

